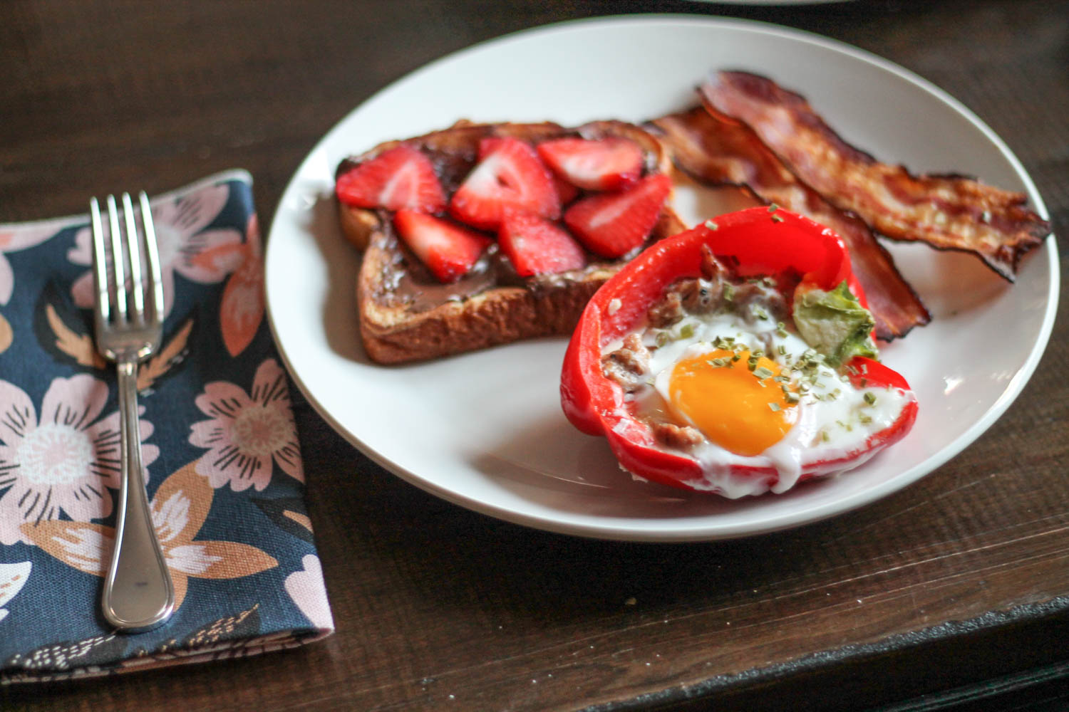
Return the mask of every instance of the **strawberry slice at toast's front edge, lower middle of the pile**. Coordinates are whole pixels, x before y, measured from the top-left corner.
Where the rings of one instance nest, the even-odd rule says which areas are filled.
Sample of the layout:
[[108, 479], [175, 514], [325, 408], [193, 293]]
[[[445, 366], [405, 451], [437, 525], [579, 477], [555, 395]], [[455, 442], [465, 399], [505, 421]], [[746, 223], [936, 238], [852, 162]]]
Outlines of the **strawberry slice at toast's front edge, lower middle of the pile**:
[[556, 274], [587, 264], [575, 238], [530, 212], [507, 210], [497, 242], [520, 276]]

